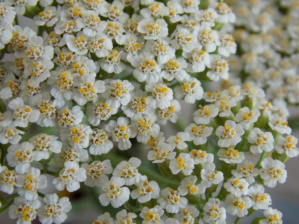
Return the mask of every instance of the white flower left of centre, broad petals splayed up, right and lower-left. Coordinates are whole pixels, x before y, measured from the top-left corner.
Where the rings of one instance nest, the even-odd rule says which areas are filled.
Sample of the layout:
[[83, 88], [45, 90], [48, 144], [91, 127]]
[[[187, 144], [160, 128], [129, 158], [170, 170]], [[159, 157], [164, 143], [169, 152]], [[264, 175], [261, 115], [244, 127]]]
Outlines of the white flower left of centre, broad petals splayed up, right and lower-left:
[[97, 80], [94, 82], [94, 76], [84, 75], [81, 77], [82, 83], [78, 86], [78, 92], [74, 96], [74, 101], [79, 105], [85, 105], [87, 101], [94, 100], [97, 93], [105, 91], [105, 82]]

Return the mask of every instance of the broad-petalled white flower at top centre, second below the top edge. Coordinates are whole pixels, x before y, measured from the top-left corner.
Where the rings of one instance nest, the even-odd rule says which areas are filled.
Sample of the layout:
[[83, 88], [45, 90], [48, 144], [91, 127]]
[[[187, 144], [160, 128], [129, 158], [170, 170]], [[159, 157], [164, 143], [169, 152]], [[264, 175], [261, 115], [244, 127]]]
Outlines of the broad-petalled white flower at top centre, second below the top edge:
[[156, 40], [168, 35], [167, 23], [164, 19], [155, 19], [152, 16], [142, 19], [137, 26], [140, 33], [145, 33], [144, 39]]

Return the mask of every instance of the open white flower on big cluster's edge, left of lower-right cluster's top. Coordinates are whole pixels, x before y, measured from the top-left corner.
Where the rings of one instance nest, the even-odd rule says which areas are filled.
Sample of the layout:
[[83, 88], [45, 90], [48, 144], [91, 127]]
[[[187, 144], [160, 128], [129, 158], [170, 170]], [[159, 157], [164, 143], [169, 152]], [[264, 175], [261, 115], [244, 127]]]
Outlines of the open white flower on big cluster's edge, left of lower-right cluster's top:
[[201, 82], [194, 77], [190, 78], [190, 75], [186, 76], [181, 85], [176, 86], [173, 91], [176, 98], [184, 98], [187, 103], [191, 104], [194, 104], [196, 100], [201, 100], [204, 94]]

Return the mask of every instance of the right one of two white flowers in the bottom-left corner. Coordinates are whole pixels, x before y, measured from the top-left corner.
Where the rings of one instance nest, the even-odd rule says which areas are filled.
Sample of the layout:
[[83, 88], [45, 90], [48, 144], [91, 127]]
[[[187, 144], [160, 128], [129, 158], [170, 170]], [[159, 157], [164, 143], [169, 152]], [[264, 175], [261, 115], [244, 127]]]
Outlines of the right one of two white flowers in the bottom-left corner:
[[42, 224], [52, 222], [60, 224], [67, 219], [68, 216], [66, 213], [72, 208], [68, 197], [59, 199], [57, 194], [46, 194], [43, 201], [45, 204], [37, 209], [37, 215]]

